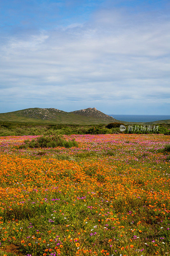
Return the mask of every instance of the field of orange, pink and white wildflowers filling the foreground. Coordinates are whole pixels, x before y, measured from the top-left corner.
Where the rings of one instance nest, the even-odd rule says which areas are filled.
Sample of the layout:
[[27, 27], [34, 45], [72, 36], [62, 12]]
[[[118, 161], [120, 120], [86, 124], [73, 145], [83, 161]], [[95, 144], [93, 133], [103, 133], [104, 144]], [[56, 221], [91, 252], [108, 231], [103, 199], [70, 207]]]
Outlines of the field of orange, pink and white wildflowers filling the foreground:
[[170, 255], [168, 135], [36, 137], [0, 137], [0, 255]]

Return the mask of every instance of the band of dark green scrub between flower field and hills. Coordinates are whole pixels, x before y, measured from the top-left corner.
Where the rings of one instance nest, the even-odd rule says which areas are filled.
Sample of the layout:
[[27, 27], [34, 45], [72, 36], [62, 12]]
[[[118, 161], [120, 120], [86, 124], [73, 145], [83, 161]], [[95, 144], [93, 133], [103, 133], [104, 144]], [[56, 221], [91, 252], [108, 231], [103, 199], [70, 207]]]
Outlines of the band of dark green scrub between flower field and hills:
[[[98, 125], [78, 125], [78, 124], [37, 124], [25, 122], [0, 122], [0, 136], [22, 136], [22, 135], [59, 135], [59, 134], [107, 134], [120, 133], [122, 123], [98, 124]], [[155, 124], [156, 126], [157, 124]], [[158, 131], [141, 131], [141, 125], [135, 130], [135, 124], [132, 125], [133, 131], [129, 130], [129, 125], [125, 124], [126, 131], [123, 133], [160, 133], [170, 134], [168, 128], [170, 124], [158, 124]], [[130, 125], [131, 126], [131, 125]], [[108, 128], [110, 127], [110, 128]]]

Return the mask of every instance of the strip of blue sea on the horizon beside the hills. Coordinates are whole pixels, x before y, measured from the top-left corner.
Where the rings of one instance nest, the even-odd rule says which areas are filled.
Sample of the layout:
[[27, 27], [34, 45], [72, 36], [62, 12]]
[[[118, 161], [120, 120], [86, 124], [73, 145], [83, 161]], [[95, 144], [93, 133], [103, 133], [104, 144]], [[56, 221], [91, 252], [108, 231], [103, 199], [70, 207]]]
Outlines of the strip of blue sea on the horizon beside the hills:
[[170, 115], [109, 115], [126, 122], [153, 122], [170, 119]]

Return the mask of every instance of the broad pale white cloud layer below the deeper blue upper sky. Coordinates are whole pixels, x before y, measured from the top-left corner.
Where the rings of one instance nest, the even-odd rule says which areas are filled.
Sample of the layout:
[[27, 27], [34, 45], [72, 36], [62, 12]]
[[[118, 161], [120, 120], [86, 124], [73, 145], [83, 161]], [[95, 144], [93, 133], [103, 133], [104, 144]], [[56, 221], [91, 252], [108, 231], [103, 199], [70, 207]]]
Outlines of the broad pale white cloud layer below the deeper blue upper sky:
[[169, 30], [163, 17], [100, 11], [85, 24], [9, 38], [1, 45], [0, 95], [8, 101], [29, 95], [32, 103], [36, 95], [36, 103], [57, 101], [56, 108], [74, 99], [79, 108], [84, 102], [166, 104]]

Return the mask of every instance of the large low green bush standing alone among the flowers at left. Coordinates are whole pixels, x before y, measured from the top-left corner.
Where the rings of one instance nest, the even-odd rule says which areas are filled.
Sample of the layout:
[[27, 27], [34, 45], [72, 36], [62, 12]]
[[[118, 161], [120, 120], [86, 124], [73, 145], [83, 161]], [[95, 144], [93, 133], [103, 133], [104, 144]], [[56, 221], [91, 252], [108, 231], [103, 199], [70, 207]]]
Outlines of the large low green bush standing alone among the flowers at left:
[[41, 136], [36, 140], [24, 140], [24, 144], [20, 145], [19, 148], [56, 148], [56, 147], [78, 147], [78, 143], [73, 140], [66, 140], [61, 135], [53, 136]]

